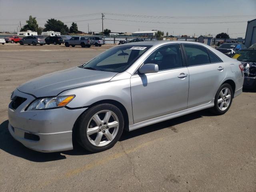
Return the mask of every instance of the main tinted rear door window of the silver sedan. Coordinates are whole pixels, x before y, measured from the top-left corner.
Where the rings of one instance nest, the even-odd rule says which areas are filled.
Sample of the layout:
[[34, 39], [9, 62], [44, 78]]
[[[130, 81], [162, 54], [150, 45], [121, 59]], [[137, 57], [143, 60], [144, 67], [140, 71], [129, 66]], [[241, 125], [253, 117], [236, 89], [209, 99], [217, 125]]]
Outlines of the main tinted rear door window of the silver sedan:
[[208, 52], [202, 46], [184, 44], [188, 66], [210, 63]]

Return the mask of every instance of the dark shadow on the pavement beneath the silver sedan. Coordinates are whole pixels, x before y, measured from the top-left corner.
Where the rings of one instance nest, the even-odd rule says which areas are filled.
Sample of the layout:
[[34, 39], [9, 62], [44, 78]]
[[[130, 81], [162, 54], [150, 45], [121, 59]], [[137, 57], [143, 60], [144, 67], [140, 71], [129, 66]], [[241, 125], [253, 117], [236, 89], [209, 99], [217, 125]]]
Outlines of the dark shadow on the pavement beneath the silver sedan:
[[[124, 141], [130, 138], [141, 136], [143, 134], [147, 134], [147, 133], [161, 130], [164, 128], [169, 128], [190, 120], [202, 118], [203, 116], [213, 116], [213, 114], [208, 112], [208, 110], [202, 110], [199, 112], [194, 112], [192, 114], [188, 114], [185, 116], [181, 116], [178, 118], [174, 118], [171, 120], [166, 120], [164, 122], [146, 126], [131, 132], [123, 132], [119, 141]], [[50, 161], [56, 161], [56, 160], [63, 160], [63, 159], [66, 159], [65, 154], [72, 155], [72, 156], [92, 154], [91, 152], [84, 150], [84, 148], [82, 148], [76, 142], [74, 142], [73, 150], [64, 151], [64, 152], [42, 153], [42, 152], [36, 152], [34, 150], [26, 148], [20, 142], [14, 140], [14, 138], [9, 133], [8, 120], [5, 120], [0, 124], [0, 141], [1, 141], [0, 150], [3, 150], [8, 154], [11, 154], [20, 158], [24, 158], [26, 160], [33, 161], [33, 162], [50, 162]]]

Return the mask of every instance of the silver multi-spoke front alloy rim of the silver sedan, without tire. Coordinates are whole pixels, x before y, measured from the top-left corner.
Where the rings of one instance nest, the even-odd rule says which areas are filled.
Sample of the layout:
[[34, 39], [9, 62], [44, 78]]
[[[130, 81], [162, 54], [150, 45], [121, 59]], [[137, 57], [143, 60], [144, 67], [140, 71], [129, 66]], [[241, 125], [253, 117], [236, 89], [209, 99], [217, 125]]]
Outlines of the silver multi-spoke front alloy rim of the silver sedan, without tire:
[[105, 146], [116, 137], [118, 129], [117, 115], [110, 110], [102, 110], [92, 116], [87, 125], [86, 134], [94, 146]]

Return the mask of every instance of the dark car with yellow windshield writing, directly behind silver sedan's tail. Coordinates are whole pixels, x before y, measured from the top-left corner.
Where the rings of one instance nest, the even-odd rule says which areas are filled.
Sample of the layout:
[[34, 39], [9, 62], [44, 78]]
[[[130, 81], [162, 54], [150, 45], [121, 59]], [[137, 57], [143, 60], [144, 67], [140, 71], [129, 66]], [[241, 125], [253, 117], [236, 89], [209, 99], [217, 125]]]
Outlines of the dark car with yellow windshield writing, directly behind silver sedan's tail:
[[238, 51], [234, 56], [244, 65], [244, 88], [256, 90], [256, 48]]

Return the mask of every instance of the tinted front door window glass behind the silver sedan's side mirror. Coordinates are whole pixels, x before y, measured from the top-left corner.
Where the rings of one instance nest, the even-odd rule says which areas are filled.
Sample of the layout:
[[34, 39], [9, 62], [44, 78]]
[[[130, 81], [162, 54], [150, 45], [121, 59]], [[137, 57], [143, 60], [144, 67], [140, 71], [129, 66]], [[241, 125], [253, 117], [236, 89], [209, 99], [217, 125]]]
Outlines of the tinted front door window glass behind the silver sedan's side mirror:
[[182, 67], [182, 56], [179, 45], [168, 45], [154, 51], [144, 62], [158, 64], [159, 70]]

